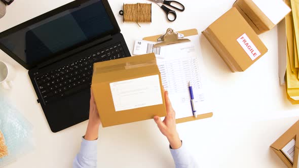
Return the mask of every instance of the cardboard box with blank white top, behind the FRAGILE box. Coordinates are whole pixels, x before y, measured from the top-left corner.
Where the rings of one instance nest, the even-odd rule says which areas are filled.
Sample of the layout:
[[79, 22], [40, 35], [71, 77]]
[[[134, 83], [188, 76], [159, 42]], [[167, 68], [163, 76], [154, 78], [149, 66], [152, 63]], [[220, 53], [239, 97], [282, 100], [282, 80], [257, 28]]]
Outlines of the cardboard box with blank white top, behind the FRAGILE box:
[[272, 29], [291, 11], [282, 0], [237, 0], [233, 7], [257, 34]]

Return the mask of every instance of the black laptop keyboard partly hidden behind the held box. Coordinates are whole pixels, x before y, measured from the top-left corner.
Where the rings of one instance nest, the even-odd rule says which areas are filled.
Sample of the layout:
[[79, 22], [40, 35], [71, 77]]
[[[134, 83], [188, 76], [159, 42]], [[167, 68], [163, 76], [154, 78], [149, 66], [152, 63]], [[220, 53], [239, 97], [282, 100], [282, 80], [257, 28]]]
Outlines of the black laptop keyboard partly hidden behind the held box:
[[90, 88], [93, 63], [124, 58], [121, 43], [35, 77], [45, 104]]

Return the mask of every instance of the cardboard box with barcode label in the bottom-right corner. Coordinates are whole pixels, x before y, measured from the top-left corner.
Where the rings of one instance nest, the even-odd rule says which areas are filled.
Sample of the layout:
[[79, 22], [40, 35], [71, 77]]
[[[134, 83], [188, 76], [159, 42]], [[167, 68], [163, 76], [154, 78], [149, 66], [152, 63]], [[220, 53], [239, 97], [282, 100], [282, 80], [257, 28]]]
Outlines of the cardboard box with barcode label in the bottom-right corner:
[[[295, 122], [291, 128], [289, 128], [281, 137], [279, 137], [270, 147], [277, 154], [277, 156], [286, 164], [289, 168], [297, 168], [298, 166], [298, 154], [299, 154], [299, 139], [297, 140], [297, 135], [299, 135], [299, 121]], [[293, 161], [291, 161], [287, 154], [283, 152], [283, 148], [294, 141]]]

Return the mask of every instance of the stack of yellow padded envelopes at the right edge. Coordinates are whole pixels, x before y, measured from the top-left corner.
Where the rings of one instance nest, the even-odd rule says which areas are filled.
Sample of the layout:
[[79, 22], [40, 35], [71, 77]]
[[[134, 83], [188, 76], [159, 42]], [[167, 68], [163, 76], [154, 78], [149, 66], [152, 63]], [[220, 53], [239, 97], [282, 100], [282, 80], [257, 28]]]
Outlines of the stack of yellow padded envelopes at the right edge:
[[286, 93], [292, 104], [299, 104], [299, 1], [286, 0], [292, 13], [286, 16], [287, 63], [286, 63]]

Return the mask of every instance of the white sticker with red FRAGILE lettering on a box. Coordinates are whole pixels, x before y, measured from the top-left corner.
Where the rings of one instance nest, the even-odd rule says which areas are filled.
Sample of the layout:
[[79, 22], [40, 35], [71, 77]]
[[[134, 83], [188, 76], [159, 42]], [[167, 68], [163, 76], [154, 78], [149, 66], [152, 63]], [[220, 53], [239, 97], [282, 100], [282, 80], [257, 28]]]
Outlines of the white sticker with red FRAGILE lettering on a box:
[[247, 53], [247, 55], [254, 61], [258, 56], [260, 56], [260, 52], [254, 46], [252, 41], [246, 35], [246, 33], [242, 34], [238, 39], [238, 43], [243, 48], [243, 50]]

